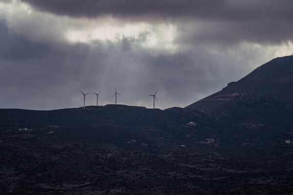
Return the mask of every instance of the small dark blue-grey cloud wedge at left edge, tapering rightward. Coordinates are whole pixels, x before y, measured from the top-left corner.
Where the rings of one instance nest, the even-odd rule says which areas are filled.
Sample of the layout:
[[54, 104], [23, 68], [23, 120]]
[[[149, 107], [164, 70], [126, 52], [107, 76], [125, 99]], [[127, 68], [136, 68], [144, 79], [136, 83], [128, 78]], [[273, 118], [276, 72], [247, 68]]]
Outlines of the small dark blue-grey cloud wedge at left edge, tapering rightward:
[[15, 32], [8, 31], [6, 22], [0, 21], [0, 59], [39, 58], [49, 50], [45, 44], [31, 42]]

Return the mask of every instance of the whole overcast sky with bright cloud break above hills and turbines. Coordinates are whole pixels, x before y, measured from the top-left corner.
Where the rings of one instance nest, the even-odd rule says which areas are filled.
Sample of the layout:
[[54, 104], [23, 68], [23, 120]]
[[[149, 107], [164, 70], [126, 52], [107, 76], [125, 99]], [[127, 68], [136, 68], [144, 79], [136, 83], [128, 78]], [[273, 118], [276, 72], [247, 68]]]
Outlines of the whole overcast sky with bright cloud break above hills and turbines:
[[[185, 107], [293, 54], [293, 0], [0, 0], [0, 108]], [[95, 105], [96, 96], [86, 96]]]

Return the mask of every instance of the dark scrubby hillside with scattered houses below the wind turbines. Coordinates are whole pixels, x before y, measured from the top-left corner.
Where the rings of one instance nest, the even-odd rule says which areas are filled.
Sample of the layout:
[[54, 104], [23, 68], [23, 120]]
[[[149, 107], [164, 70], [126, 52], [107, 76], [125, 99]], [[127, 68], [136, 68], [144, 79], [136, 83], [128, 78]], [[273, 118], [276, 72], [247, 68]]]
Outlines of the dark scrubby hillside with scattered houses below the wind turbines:
[[292, 195], [292, 116], [291, 102], [243, 97], [209, 114], [1, 109], [0, 194]]

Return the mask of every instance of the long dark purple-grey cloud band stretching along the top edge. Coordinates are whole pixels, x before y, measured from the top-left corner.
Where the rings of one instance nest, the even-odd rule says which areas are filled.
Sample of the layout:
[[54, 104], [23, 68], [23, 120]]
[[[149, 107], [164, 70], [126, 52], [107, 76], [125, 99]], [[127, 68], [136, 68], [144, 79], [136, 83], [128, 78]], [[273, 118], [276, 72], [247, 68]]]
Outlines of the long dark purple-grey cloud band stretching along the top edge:
[[247, 20], [292, 18], [292, 0], [22, 0], [56, 14], [74, 17], [153, 15]]

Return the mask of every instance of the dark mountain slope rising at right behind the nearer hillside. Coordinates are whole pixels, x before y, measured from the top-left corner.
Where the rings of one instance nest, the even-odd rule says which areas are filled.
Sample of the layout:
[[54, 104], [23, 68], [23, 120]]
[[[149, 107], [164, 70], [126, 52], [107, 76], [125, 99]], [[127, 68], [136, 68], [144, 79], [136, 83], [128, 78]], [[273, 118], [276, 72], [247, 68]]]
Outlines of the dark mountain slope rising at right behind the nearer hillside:
[[228, 83], [221, 91], [186, 108], [210, 111], [229, 102], [235, 96], [243, 95], [293, 100], [293, 56], [272, 59], [246, 77]]

